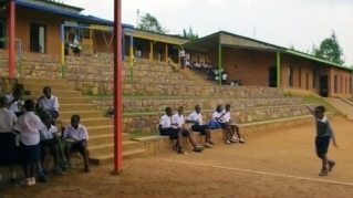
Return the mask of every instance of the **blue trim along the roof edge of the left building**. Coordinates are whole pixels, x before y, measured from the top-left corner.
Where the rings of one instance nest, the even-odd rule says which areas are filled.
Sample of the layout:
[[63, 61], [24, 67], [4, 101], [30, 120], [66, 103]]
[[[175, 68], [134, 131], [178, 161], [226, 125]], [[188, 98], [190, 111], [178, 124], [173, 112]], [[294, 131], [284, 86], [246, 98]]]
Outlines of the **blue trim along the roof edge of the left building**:
[[[66, 12], [63, 10], [56, 10], [53, 8], [42, 7], [42, 6], [32, 4], [32, 3], [28, 3], [28, 2], [23, 2], [23, 1], [18, 1], [18, 0], [13, 0], [13, 1], [15, 4], [21, 6], [21, 7], [27, 7], [27, 8], [32, 8], [32, 9], [37, 9], [37, 10], [43, 10], [43, 11], [48, 11], [48, 12], [52, 12], [52, 13], [58, 13], [58, 14], [71, 17], [71, 18], [77, 19], [77, 20], [81, 19], [81, 20], [85, 20], [85, 21], [91, 21], [91, 22], [102, 24], [102, 25], [113, 25], [114, 24], [114, 21], [96, 18], [93, 15], [83, 15], [80, 13]], [[134, 28], [134, 25], [124, 24], [124, 23], [122, 23], [122, 27], [123, 28], [132, 28], [132, 29]]]

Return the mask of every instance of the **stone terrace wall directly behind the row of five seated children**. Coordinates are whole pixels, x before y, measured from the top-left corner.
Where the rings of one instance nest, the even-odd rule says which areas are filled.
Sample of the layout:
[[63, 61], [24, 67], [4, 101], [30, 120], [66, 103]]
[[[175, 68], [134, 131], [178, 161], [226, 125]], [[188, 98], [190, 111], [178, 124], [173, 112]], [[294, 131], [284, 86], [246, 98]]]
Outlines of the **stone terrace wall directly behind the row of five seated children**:
[[[187, 116], [190, 111], [186, 111]], [[209, 121], [214, 111], [204, 111], [204, 121]], [[293, 116], [309, 115], [304, 105], [293, 106], [268, 106], [256, 108], [242, 108], [231, 111], [231, 121], [238, 124], [270, 121]], [[163, 113], [124, 114], [124, 133], [150, 133], [157, 132], [157, 125]]]

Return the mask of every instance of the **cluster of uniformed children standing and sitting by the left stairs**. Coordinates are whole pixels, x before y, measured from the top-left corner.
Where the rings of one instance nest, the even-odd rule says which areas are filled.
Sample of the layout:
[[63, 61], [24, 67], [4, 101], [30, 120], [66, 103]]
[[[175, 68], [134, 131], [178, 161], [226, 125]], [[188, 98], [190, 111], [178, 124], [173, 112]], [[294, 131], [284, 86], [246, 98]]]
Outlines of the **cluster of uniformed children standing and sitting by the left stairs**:
[[[15, 87], [12, 94], [0, 97], [0, 166], [10, 167], [12, 183], [17, 181], [13, 167], [18, 163], [23, 166], [24, 171], [21, 185], [35, 185], [35, 170], [38, 180], [48, 183], [45, 175], [50, 155], [54, 158], [53, 173], [65, 175], [64, 170], [72, 167], [72, 152], [81, 153], [84, 158], [84, 170], [90, 171], [86, 148], [89, 134], [80, 124], [80, 116], [71, 117], [71, 125], [64, 128], [63, 137], [60, 138], [62, 134], [54, 122], [59, 117], [59, 101], [51, 94], [51, 88], [43, 88], [43, 96], [37, 104], [32, 100], [24, 101], [24, 112], [19, 107], [22, 94], [23, 91]], [[0, 183], [1, 180], [0, 174]]]

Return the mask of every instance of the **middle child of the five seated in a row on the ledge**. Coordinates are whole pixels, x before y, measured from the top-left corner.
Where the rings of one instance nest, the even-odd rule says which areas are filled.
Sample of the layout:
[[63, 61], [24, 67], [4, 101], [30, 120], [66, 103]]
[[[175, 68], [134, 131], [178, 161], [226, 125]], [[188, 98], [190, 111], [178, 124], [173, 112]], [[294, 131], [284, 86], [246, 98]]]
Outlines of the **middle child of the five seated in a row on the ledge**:
[[215, 145], [211, 139], [210, 129], [208, 125], [203, 125], [203, 115], [201, 108], [199, 105], [195, 106], [195, 112], [193, 112], [186, 119], [186, 123], [191, 123], [193, 132], [199, 132], [201, 135], [205, 135], [205, 147], [211, 148], [210, 145]]

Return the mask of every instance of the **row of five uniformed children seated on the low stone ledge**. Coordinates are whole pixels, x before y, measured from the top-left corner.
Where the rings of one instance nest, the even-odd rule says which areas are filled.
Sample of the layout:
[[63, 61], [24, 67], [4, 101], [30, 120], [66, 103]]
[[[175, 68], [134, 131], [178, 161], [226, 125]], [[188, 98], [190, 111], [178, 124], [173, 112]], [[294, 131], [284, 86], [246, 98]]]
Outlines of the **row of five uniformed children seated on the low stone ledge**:
[[[187, 154], [183, 149], [183, 137], [188, 137], [194, 147], [194, 152], [200, 153], [204, 150], [204, 148], [211, 148], [211, 146], [215, 145], [215, 142], [211, 139], [210, 133], [211, 129], [218, 128], [222, 128], [225, 131], [226, 144], [231, 145], [237, 142], [245, 144], [238, 125], [231, 123], [229, 104], [226, 105], [225, 110], [221, 105], [218, 105], [216, 112], [211, 116], [211, 121], [208, 123], [204, 123], [200, 112], [200, 106], [196, 105], [195, 112], [193, 112], [185, 121], [183, 115], [183, 106], [179, 106], [176, 114], [173, 113], [172, 107], [166, 107], [166, 114], [160, 117], [158, 128], [159, 134], [162, 136], [169, 136], [170, 139], [176, 140], [176, 144], [173, 146], [173, 148], [178, 154]], [[185, 123], [189, 124], [190, 127], [186, 126]], [[205, 135], [204, 146], [200, 146], [197, 143], [194, 132], [199, 132], [201, 135]]]

